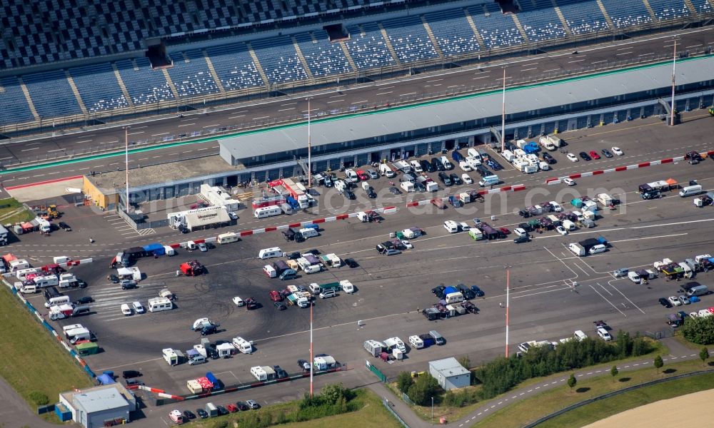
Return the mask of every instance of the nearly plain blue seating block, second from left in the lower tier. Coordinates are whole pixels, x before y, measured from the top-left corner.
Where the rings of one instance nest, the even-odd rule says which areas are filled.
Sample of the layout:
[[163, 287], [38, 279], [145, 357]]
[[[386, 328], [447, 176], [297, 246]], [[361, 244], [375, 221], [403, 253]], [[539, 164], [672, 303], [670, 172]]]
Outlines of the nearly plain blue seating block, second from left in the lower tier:
[[41, 118], [82, 113], [64, 70], [26, 74], [22, 76], [22, 81]]

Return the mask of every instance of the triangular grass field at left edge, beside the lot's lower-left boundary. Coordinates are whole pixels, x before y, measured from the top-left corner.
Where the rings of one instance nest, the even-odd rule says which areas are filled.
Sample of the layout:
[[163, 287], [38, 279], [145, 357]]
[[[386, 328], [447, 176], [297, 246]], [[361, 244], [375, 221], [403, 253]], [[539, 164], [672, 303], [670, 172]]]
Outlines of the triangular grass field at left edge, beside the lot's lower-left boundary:
[[38, 320], [8, 288], [0, 285], [0, 376], [23, 397], [31, 409], [37, 406], [31, 392], [41, 392], [50, 403], [60, 392], [92, 385], [91, 379], [74, 362]]

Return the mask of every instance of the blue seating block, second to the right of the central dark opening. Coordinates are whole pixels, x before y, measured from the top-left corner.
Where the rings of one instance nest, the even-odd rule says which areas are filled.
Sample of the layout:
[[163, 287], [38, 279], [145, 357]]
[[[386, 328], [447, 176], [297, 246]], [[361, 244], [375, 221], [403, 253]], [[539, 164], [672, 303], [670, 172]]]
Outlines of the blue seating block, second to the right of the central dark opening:
[[436, 49], [418, 16], [389, 19], [383, 21], [382, 26], [401, 63], [438, 58]]

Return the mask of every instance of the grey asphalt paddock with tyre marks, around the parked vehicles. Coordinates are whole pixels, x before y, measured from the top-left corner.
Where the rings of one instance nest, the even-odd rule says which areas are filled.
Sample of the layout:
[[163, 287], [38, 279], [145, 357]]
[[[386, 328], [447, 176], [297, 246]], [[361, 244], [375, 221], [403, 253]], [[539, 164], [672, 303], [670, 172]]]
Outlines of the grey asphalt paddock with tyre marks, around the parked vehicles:
[[[686, 124], [685, 124], [686, 125]], [[664, 138], [652, 137], [653, 147], [640, 147], [637, 138], [648, 140], [648, 128], [635, 126], [623, 128], [620, 133], [610, 129], [599, 131], [570, 142], [570, 150], [588, 144], [618, 145], [625, 150], [625, 156], [602, 160], [615, 165], [638, 163], [652, 158], [679, 155], [686, 147], [707, 146], [700, 133], [703, 127], [679, 128], [692, 131], [692, 138], [680, 138], [682, 145], [668, 146]], [[655, 129], [655, 128], [653, 128]], [[657, 133], [669, 132], [662, 126]], [[642, 135], [640, 135], [642, 134]], [[637, 138], [635, 138], [635, 136]], [[590, 140], [588, 140], [588, 138]], [[565, 136], [569, 141], [568, 136]], [[590, 141], [590, 142], [588, 142]], [[634, 141], [634, 142], [633, 142]], [[649, 140], [648, 140], [649, 141]], [[656, 145], [659, 146], [656, 146]], [[599, 146], [598, 146], [599, 147]], [[655, 153], [658, 151], [666, 151]], [[503, 162], [505, 164], [505, 162]], [[591, 162], [594, 166], [594, 162]], [[580, 161], [575, 167], [583, 167]], [[573, 165], [568, 165], [571, 167]], [[590, 168], [590, 165], [585, 165]], [[601, 168], [598, 166], [598, 168]], [[578, 172], [585, 171], [583, 168]], [[429, 360], [452, 355], [468, 355], [473, 364], [488, 360], [503, 352], [505, 339], [505, 310], [500, 303], [506, 301], [506, 274], [511, 277], [511, 347], [515, 350], [518, 342], [525, 340], [558, 340], [572, 334], [573, 330], [592, 332], [593, 320], [605, 319], [615, 331], [654, 332], [668, 328], [664, 316], [673, 310], [658, 305], [658, 297], [675, 295], [680, 283], [653, 280], [650, 285], [635, 285], [626, 279], [615, 279], [610, 271], [617, 267], [640, 267], [651, 265], [655, 260], [668, 257], [683, 260], [700, 253], [711, 253], [710, 207], [695, 208], [691, 198], [679, 198], [668, 194], [660, 200], [643, 201], [634, 193], [640, 183], [675, 178], [681, 183], [696, 178], [705, 188], [712, 188], [714, 163], [706, 161], [700, 165], [670, 164], [631, 170], [625, 173], [598, 175], [578, 180], [578, 185], [543, 186], [543, 173], [522, 175], [513, 171], [506, 179], [508, 184], [527, 183], [527, 190], [518, 193], [490, 195], [483, 203], [472, 203], [463, 208], [436, 210], [432, 205], [406, 208], [405, 196], [396, 195], [391, 199], [358, 199], [349, 206], [338, 205], [343, 196], [331, 190], [318, 188], [322, 205], [315, 212], [297, 213], [292, 216], [262, 220], [241, 220], [238, 226], [227, 230], [246, 230], [321, 218], [333, 211], [353, 212], [366, 209], [366, 204], [380, 203], [382, 206], [396, 205], [398, 211], [385, 215], [382, 223], [360, 223], [356, 219], [343, 220], [321, 225], [321, 236], [305, 243], [286, 243], [280, 233], [266, 233], [243, 238], [238, 243], [218, 245], [207, 253], [195, 251], [187, 253], [179, 250], [173, 258], [142, 259], [137, 266], [146, 273], [136, 290], [121, 290], [106, 280], [111, 272], [109, 260], [116, 251], [131, 245], [145, 245], [152, 241], [164, 243], [178, 242], [191, 238], [215, 235], [216, 230], [188, 235], [157, 233], [151, 237], [126, 239], [109, 228], [110, 219], [102, 213], [94, 213], [89, 208], [68, 208], [67, 223], [75, 231], [56, 232], [49, 238], [41, 235], [26, 235], [20, 243], [13, 244], [11, 250], [18, 255], [27, 254], [33, 260], [44, 263], [51, 255], [68, 254], [91, 255], [95, 257], [91, 265], [75, 267], [76, 274], [89, 282], [85, 290], [71, 290], [73, 297], [92, 295], [94, 313], [74, 320], [63, 320], [57, 325], [81, 322], [96, 332], [104, 352], [87, 357], [89, 365], [97, 371], [126, 370], [135, 368], [144, 372], [142, 381], [146, 384], [166, 389], [174, 394], [185, 394], [187, 379], [193, 379], [210, 370], [221, 377], [226, 384], [251, 382], [249, 372], [254, 365], [281, 365], [288, 372], [297, 372], [296, 360], [307, 359], [309, 355], [309, 312], [296, 307], [278, 312], [268, 300], [268, 291], [286, 287], [288, 284], [308, 285], [311, 282], [332, 282], [351, 280], [357, 288], [354, 295], [340, 293], [338, 297], [316, 302], [314, 307], [314, 338], [316, 353], [333, 355], [353, 370], [341, 374], [330, 374], [320, 382], [331, 382], [329, 377], [356, 387], [372, 382], [373, 378], [361, 367], [365, 359], [378, 365], [388, 376], [401, 370], [424, 370]], [[559, 175], [560, 173], [558, 173]], [[380, 178], [373, 184], [379, 191], [386, 191], [388, 180]], [[359, 190], [358, 190], [359, 191]], [[450, 189], [453, 192], [453, 189]], [[458, 220], [471, 223], [471, 219], [489, 218], [498, 227], [513, 229], [523, 219], [516, 214], [518, 208], [545, 200], [561, 203], [576, 195], [601, 192], [620, 194], [624, 205], [618, 210], [606, 210], [602, 218], [596, 220], [597, 228], [578, 230], [568, 236], [554, 232], [535, 235], [531, 243], [516, 245], [513, 236], [505, 240], [490, 242], [474, 241], [466, 233], [449, 234], [443, 228], [444, 220]], [[411, 195], [410, 195], [411, 196]], [[422, 197], [426, 197], [423, 195]], [[358, 193], [359, 198], [359, 193]], [[330, 207], [326, 201], [333, 200]], [[363, 204], [363, 205], [358, 205]], [[566, 209], [570, 209], [566, 205]], [[496, 216], [490, 220], [491, 215]], [[243, 218], [247, 218], [243, 214]], [[388, 238], [394, 230], [420, 227], [426, 235], [412, 240], [413, 250], [401, 255], [386, 257], [374, 250], [377, 243]], [[76, 232], [80, 233], [76, 233]], [[98, 241], [95, 245], [84, 242], [92, 233]], [[210, 235], [209, 235], [210, 234]], [[576, 258], [566, 248], [575, 240], [603, 235], [612, 243], [606, 253]], [[59, 239], [58, 239], [59, 237]], [[46, 244], [50, 243], [51, 244]], [[54, 245], [54, 246], [51, 246]], [[262, 272], [263, 260], [256, 255], [261, 248], [280, 246], [283, 251], [308, 250], [318, 248], [322, 253], [336, 253], [342, 258], [355, 258], [360, 267], [341, 267], [314, 275], [303, 275], [297, 280], [281, 282], [269, 279]], [[197, 259], [208, 267], [208, 274], [199, 277], [176, 277], [180, 263]], [[710, 274], [700, 274], [698, 280], [704, 282]], [[474, 301], [480, 309], [478, 315], [462, 315], [453, 319], [428, 322], [419, 311], [435, 302], [430, 290], [439, 284], [454, 285], [463, 282], [476, 284], [486, 292], [486, 296]], [[578, 287], [573, 287], [578, 282]], [[705, 282], [704, 282], [705, 283]], [[176, 309], [124, 317], [119, 311], [122, 303], [139, 300], [146, 305], [149, 297], [158, 295], [163, 287], [169, 287], [178, 295]], [[236, 307], [231, 297], [239, 295], [256, 297], [263, 307], [248, 311]], [[690, 305], [692, 310], [708, 307], [712, 302], [706, 298], [702, 303]], [[31, 302], [40, 306], [43, 298], [31, 297]], [[690, 308], [685, 308], [690, 312]], [[200, 342], [200, 335], [191, 332], [191, 322], [199, 317], [210, 317], [221, 323], [221, 332], [211, 336], [211, 340], [231, 340], [241, 336], [255, 342], [253, 355], [237, 355], [228, 360], [210, 361], [206, 365], [169, 367], [161, 358], [161, 349], [175, 347], [186, 350]], [[361, 320], [361, 325], [358, 321]], [[378, 362], [362, 350], [367, 339], [383, 340], [399, 336], [406, 340], [409, 335], [426, 333], [436, 329], [446, 337], [443, 347], [426, 350], [410, 350], [406, 360], [388, 365]], [[268, 387], [251, 390], [252, 397], [261, 397], [264, 403], [298, 397], [308, 383], [306, 380], [291, 382], [281, 388]], [[236, 394], [243, 398], [245, 394]], [[235, 399], [240, 399], [236, 397]], [[226, 397], [228, 398], [228, 397]], [[233, 401], [233, 398], [230, 399]], [[228, 402], [228, 399], [226, 399]], [[196, 407], [191, 404], [191, 408]], [[146, 412], [159, 412], [152, 407]]]

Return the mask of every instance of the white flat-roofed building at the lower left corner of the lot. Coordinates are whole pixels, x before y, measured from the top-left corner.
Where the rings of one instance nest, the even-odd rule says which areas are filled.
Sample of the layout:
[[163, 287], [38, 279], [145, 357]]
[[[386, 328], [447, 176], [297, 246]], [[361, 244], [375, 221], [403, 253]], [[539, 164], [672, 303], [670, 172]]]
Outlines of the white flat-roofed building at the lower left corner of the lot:
[[130, 422], [129, 413], [136, 410], [136, 398], [118, 383], [63, 392], [59, 401], [68, 407], [72, 420], [85, 428]]

